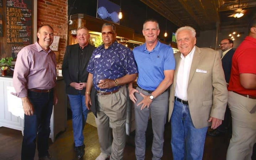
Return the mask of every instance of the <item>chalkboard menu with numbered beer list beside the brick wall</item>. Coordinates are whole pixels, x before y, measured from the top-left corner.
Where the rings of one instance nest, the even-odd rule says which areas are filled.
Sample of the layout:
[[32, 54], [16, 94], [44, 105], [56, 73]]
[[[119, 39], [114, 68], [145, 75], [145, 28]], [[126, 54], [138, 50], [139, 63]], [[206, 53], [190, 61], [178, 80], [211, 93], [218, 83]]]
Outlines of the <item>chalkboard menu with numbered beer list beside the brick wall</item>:
[[31, 44], [32, 42], [32, 1], [6, 1], [6, 42]]

